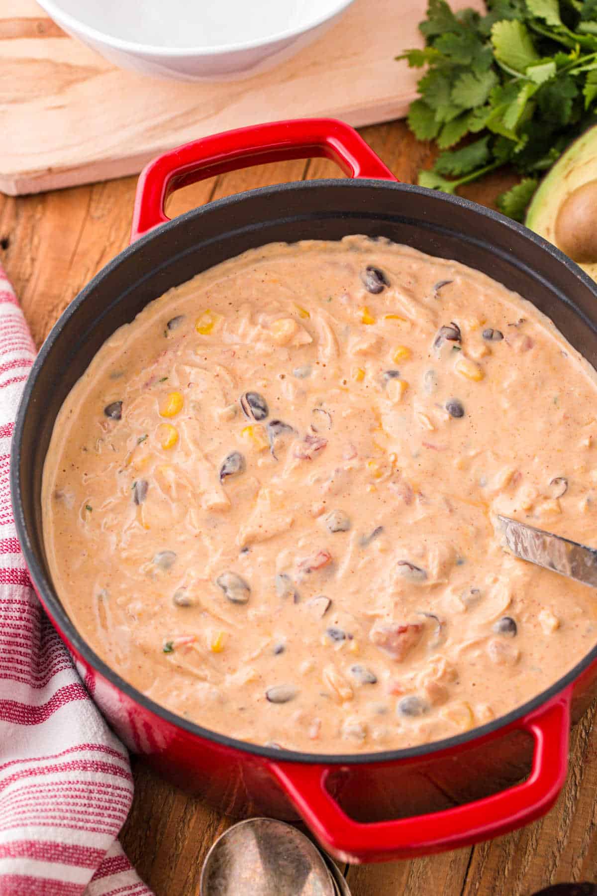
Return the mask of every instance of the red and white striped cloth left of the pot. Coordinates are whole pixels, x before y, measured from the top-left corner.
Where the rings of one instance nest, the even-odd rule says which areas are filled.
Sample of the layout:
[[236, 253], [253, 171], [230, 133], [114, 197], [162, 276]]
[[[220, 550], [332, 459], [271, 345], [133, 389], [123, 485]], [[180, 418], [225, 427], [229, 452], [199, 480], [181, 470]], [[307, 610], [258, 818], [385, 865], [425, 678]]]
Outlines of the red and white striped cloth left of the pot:
[[151, 896], [117, 840], [128, 754], [40, 607], [14, 529], [11, 439], [34, 357], [0, 267], [0, 896]]

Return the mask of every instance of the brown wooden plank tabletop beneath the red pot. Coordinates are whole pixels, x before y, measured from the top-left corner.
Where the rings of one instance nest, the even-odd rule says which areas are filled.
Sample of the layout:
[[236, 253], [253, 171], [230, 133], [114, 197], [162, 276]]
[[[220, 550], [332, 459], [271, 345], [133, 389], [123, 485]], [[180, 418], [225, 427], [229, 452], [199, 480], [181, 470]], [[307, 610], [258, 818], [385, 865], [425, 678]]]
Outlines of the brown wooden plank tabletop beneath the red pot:
[[[362, 134], [400, 180], [431, 164], [404, 123]], [[254, 186], [337, 177], [330, 162], [292, 161], [251, 168], [187, 187], [168, 208], [186, 208]], [[514, 178], [499, 173], [466, 195], [491, 204]], [[18, 199], [0, 195], [0, 263], [21, 299], [39, 345], [85, 283], [126, 246], [135, 178]], [[572, 659], [572, 658], [571, 658]], [[597, 726], [595, 705], [571, 738], [567, 784], [550, 814], [523, 831], [443, 856], [380, 866], [352, 866], [354, 896], [531, 896], [560, 881], [597, 881]], [[195, 896], [203, 857], [230, 820], [185, 796], [133, 759], [135, 797], [122, 840], [157, 896]], [[281, 894], [282, 896], [282, 894]]]

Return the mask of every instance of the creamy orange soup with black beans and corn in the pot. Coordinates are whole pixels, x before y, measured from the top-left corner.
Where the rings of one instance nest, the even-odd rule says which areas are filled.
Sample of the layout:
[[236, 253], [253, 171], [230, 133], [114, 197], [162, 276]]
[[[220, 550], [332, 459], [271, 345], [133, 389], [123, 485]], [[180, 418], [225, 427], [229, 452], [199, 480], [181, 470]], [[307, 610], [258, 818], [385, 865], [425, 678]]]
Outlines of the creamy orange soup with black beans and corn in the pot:
[[98, 351], [43, 480], [58, 595], [156, 702], [350, 753], [512, 710], [597, 642], [503, 513], [597, 543], [597, 386], [478, 271], [366, 237], [254, 249]]

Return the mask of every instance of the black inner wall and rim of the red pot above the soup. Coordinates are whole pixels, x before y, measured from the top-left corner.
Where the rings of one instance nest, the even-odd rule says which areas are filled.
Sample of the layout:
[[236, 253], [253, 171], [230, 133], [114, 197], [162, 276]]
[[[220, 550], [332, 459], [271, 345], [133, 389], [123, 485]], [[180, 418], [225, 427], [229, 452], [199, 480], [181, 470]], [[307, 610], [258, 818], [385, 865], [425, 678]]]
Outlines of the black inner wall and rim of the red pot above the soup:
[[[597, 366], [593, 280], [541, 237], [472, 202], [404, 184], [320, 180], [212, 202], [150, 232], [108, 264], [55, 324], [27, 383], [13, 444], [15, 517], [34, 582], [55, 621], [96, 668], [105, 667], [73, 631], [53, 593], [42, 539], [41, 474], [64, 398], [108, 336], [166, 289], [255, 246], [355, 233], [388, 237], [483, 271], [532, 301]], [[593, 655], [597, 649], [576, 671]]]

